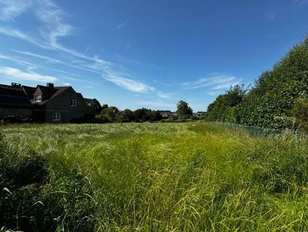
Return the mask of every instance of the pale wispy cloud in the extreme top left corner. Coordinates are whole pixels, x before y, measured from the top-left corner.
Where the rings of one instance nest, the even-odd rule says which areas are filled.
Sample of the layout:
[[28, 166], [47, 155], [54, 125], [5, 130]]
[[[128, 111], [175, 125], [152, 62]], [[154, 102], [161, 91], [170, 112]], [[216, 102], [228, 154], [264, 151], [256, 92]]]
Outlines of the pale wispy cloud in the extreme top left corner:
[[23, 13], [32, 4], [30, 0], [0, 0], [0, 20], [11, 21], [16, 16]]

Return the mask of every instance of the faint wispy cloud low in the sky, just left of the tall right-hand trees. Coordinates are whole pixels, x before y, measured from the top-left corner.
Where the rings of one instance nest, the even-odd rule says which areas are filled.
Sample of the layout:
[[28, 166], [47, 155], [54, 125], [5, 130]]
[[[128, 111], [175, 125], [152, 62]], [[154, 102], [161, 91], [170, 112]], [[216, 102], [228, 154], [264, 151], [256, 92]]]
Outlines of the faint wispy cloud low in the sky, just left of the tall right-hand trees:
[[227, 89], [231, 85], [240, 84], [242, 78], [237, 78], [228, 74], [213, 73], [207, 78], [201, 78], [194, 82], [185, 82], [181, 84], [182, 89], [198, 89], [209, 87], [209, 89]]

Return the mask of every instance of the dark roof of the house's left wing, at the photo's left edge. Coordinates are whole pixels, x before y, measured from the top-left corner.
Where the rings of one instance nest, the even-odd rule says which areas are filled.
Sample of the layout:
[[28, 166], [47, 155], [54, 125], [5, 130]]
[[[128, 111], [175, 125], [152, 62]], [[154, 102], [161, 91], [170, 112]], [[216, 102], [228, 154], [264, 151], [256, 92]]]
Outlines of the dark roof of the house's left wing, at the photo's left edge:
[[0, 84], [0, 104], [14, 106], [31, 106], [21, 86]]

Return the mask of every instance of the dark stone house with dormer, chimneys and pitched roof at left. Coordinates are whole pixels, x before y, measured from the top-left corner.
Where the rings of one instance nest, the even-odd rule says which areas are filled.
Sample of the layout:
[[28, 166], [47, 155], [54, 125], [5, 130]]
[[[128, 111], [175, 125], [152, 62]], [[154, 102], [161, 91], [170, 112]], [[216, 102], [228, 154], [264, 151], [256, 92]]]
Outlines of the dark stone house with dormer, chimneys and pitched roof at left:
[[93, 114], [84, 97], [72, 86], [53, 86], [51, 83], [36, 87], [1, 84], [0, 102], [5, 102], [0, 105], [0, 117], [20, 115], [34, 121], [70, 122]]

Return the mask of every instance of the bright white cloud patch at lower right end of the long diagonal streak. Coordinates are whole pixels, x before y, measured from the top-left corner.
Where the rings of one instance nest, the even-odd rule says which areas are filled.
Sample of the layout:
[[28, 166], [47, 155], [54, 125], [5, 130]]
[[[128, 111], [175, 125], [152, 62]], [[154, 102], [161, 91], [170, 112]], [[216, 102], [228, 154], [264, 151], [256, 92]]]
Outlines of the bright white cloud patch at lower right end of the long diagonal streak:
[[136, 80], [131, 80], [129, 78], [123, 78], [120, 76], [113, 76], [113, 75], [107, 76], [105, 77], [105, 80], [108, 80], [122, 87], [123, 89], [127, 89], [129, 91], [136, 92], [136, 93], [149, 93], [149, 92], [155, 91], [154, 87], [147, 86], [146, 84], [143, 84]]

